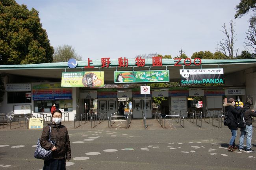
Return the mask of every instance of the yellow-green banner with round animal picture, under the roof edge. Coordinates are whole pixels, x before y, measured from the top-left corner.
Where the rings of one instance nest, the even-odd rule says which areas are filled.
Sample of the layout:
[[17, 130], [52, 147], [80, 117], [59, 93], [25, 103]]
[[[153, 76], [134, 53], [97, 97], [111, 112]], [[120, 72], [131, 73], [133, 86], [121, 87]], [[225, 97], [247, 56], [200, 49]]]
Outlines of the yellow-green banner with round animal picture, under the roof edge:
[[102, 72], [62, 72], [61, 87], [103, 87]]

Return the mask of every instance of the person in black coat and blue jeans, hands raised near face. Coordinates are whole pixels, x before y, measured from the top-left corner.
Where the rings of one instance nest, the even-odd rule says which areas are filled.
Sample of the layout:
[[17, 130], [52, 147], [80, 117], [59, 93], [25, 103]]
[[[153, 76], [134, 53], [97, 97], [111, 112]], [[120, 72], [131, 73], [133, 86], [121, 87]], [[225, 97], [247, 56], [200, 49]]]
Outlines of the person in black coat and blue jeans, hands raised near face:
[[228, 125], [228, 128], [230, 129], [232, 136], [229, 142], [228, 150], [235, 152], [235, 149], [237, 149], [235, 145], [236, 135], [237, 135], [237, 116], [240, 115], [243, 105], [240, 105], [240, 108], [237, 110], [235, 108], [235, 102], [233, 98], [228, 99], [228, 103], [224, 103], [223, 106], [225, 107], [225, 111], [228, 113], [228, 117], [231, 118], [231, 123]]

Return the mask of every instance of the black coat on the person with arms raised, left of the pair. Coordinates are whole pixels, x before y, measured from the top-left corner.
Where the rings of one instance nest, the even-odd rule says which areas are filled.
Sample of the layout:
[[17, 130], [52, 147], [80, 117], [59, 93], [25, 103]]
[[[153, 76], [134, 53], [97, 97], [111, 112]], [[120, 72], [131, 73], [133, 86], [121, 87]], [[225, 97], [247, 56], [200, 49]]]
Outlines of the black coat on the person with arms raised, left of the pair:
[[237, 116], [241, 114], [242, 108], [238, 110], [232, 103], [224, 103], [225, 111], [228, 113], [228, 116], [231, 118], [231, 124], [228, 126], [229, 129], [237, 130]]

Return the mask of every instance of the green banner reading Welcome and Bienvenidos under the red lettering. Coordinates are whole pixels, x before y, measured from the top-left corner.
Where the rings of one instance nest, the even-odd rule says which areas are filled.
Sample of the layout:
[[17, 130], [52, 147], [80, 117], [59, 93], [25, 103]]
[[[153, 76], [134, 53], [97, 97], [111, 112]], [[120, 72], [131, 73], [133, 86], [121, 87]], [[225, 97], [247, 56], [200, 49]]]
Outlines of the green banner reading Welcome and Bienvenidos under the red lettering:
[[169, 82], [169, 70], [115, 71], [115, 83]]

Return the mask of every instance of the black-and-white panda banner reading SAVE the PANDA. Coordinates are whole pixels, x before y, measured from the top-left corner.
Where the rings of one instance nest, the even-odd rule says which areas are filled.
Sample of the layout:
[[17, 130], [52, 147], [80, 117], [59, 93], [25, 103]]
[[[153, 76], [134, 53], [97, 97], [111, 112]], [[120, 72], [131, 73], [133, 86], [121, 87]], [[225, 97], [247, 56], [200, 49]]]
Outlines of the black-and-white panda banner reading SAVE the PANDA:
[[224, 83], [223, 68], [182, 69], [181, 84]]

